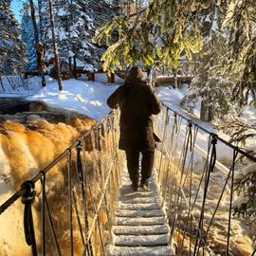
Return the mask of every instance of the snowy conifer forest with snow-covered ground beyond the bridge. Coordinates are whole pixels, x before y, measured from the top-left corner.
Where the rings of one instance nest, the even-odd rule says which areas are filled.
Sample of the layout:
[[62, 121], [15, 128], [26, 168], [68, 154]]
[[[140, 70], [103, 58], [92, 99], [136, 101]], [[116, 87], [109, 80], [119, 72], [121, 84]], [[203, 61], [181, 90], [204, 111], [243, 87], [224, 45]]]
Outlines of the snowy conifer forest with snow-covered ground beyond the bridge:
[[[12, 9], [12, 2], [21, 9]], [[0, 2], [1, 122], [10, 109], [5, 99], [13, 101], [14, 94], [100, 121], [109, 111], [107, 97], [133, 65], [141, 67], [164, 104], [256, 157], [255, 0]], [[84, 81], [96, 85], [85, 87]], [[78, 134], [70, 133], [64, 147]], [[234, 171], [239, 200], [232, 216], [243, 220], [255, 247], [256, 163], [244, 158], [236, 159], [242, 171]]]

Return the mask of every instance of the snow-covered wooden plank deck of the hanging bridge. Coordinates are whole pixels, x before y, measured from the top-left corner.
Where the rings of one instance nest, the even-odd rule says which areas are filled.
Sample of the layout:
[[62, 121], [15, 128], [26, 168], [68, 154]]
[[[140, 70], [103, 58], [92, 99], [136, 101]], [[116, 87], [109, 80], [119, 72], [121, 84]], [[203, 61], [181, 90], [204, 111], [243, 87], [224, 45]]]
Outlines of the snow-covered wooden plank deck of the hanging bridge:
[[124, 171], [109, 256], [174, 255], [163, 199], [155, 180], [154, 174], [151, 192], [133, 192], [129, 175]]

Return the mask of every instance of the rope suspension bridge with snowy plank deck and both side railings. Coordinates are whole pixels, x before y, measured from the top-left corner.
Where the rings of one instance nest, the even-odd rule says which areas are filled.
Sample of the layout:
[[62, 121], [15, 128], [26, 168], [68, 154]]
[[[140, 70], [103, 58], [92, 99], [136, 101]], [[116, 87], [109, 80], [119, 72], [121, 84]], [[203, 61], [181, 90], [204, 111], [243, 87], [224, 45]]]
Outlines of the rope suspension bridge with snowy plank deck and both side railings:
[[[0, 206], [0, 218], [24, 205], [33, 256], [244, 255], [233, 228], [234, 174], [256, 158], [166, 105], [155, 132], [162, 142], [150, 192], [130, 188], [115, 110], [25, 181]], [[64, 184], [52, 192], [57, 166]]]

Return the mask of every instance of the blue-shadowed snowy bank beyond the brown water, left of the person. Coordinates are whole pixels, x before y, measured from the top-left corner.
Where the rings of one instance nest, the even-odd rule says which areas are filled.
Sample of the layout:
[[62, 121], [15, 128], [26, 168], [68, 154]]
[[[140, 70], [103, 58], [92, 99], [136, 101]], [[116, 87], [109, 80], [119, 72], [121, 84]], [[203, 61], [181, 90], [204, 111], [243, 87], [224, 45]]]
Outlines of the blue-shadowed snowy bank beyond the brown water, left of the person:
[[[2, 77], [5, 91], [0, 90], [1, 97], [25, 97], [27, 101], [43, 101], [54, 108], [75, 111], [92, 119], [101, 120], [109, 111], [106, 104], [108, 96], [122, 81], [116, 76], [116, 82], [107, 83], [106, 74], [96, 74], [96, 81], [88, 81], [85, 76], [79, 80], [63, 81], [64, 90], [59, 91], [56, 80], [46, 76], [46, 87], [41, 86], [40, 77], [31, 77], [25, 81], [28, 86], [23, 87], [20, 77], [15, 77], [17, 82], [15, 90], [6, 77]], [[19, 84], [19, 85], [17, 85]]]

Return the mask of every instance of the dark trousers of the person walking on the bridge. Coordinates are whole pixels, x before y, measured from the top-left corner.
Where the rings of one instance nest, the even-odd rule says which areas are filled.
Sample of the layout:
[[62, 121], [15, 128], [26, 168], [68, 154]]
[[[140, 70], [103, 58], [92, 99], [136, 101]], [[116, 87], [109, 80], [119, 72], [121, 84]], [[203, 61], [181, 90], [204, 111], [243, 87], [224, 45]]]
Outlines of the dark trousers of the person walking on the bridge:
[[152, 174], [154, 165], [155, 151], [135, 151], [126, 150], [127, 168], [130, 179], [133, 183], [138, 183], [138, 170], [139, 170], [139, 153], [141, 153], [141, 180], [140, 183], [147, 183]]

